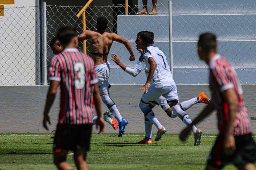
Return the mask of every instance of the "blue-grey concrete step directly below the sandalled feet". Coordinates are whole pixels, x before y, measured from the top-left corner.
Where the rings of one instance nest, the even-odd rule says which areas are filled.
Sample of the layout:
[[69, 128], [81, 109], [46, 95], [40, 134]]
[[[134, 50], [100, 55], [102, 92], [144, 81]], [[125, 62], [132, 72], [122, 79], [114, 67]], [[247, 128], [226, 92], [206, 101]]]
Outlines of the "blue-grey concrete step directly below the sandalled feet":
[[[174, 41], [196, 41], [202, 32], [212, 32], [219, 40], [256, 40], [256, 15], [174, 15]], [[169, 18], [164, 15], [118, 15], [118, 35], [135, 40], [140, 31], [152, 31], [155, 41], [169, 40]]]

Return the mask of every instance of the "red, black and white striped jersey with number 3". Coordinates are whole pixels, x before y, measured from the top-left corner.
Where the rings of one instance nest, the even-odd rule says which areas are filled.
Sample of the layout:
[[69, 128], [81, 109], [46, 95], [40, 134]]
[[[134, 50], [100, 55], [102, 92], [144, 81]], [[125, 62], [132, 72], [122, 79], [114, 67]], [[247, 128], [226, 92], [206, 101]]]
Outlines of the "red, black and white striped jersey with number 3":
[[60, 124], [91, 124], [94, 110], [93, 84], [98, 82], [94, 62], [76, 48], [53, 57], [50, 80], [60, 81]]

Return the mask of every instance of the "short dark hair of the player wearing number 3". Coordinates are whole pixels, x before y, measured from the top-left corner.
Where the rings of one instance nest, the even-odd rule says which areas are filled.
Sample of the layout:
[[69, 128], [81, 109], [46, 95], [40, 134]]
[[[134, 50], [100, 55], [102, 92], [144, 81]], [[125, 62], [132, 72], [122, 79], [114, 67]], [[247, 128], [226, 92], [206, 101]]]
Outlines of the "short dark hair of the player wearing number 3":
[[71, 40], [78, 36], [78, 33], [74, 27], [64, 26], [59, 28], [57, 32], [57, 38], [59, 39], [62, 45], [67, 45], [71, 42]]

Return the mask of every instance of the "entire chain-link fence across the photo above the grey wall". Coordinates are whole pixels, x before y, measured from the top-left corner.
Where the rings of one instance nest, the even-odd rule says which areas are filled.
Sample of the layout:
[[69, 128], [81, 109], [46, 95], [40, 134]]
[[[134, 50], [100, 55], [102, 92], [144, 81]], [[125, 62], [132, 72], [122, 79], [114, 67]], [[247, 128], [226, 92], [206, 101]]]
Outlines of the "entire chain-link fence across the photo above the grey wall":
[[[82, 7], [47, 6], [47, 67], [53, 57], [49, 43], [60, 26], [72, 25], [82, 33], [82, 18], [76, 14]], [[157, 5], [157, 15], [135, 15], [139, 6], [89, 7], [86, 10], [86, 29], [96, 31], [96, 20], [106, 16], [107, 32], [126, 38], [132, 45], [139, 31], [155, 33], [158, 46], [170, 61], [168, 4]], [[149, 7], [151, 9], [151, 7]], [[1, 10], [1, 9], [0, 9]], [[0, 85], [40, 84], [42, 79], [42, 17], [39, 7], [4, 9], [0, 16]], [[149, 11], [150, 12], [150, 11]], [[39, 22], [41, 20], [41, 22]], [[234, 65], [242, 84], [256, 84], [255, 74], [256, 4], [172, 4], [173, 69], [177, 84], [207, 84], [208, 69], [197, 57], [198, 35], [210, 31], [217, 35], [220, 53]], [[79, 43], [82, 50], [83, 44]], [[113, 43], [110, 53], [116, 53], [128, 67], [129, 52], [123, 44]], [[87, 43], [87, 54], [90, 46]], [[111, 84], [144, 84], [144, 73], [131, 77], [110, 60]]]

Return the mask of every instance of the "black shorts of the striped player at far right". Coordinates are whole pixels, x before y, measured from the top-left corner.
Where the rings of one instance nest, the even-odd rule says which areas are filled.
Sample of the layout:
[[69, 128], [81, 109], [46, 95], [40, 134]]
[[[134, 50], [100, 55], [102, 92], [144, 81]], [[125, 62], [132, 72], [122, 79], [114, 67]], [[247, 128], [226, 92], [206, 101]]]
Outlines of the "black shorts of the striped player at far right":
[[207, 164], [221, 169], [228, 163], [233, 163], [237, 166], [256, 161], [256, 145], [252, 134], [235, 136], [235, 153], [227, 156], [223, 152], [224, 136], [219, 135], [215, 141], [212, 151], [208, 157]]

